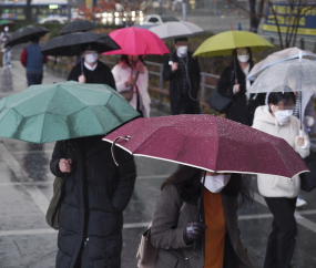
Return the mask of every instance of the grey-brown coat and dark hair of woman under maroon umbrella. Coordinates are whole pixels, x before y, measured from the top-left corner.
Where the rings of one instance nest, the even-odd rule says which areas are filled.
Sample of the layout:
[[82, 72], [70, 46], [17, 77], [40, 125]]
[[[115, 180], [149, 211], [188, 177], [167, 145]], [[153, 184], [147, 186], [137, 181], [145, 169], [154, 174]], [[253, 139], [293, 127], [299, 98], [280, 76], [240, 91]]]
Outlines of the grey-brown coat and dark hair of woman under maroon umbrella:
[[[151, 227], [151, 244], [160, 249], [155, 268], [211, 268], [211, 266], [205, 266], [205, 256], [211, 254], [205, 252], [206, 235], [202, 234], [196, 238], [195, 248], [193, 243], [186, 241], [184, 235], [190, 223], [198, 219], [201, 174], [201, 169], [180, 166], [177, 172], [162, 186]], [[237, 198], [242, 182], [241, 175], [234, 174], [225, 188], [217, 194], [222, 198], [226, 234], [223, 237], [224, 246], [222, 248], [224, 259], [220, 266], [212, 266], [212, 268], [253, 267], [241, 241], [237, 226]], [[202, 202], [201, 218], [205, 220], [204, 207], [207, 206], [207, 203], [203, 204]], [[215, 218], [208, 223], [205, 220], [205, 224], [211, 227], [213, 220], [215, 221]]]

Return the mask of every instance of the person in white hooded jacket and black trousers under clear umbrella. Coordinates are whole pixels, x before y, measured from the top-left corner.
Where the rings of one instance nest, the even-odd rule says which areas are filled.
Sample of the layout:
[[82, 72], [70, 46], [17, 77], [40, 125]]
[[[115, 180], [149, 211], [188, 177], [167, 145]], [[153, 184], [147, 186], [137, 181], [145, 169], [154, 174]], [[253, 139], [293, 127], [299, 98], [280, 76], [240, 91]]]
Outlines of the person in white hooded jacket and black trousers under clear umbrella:
[[[253, 127], [284, 138], [303, 158], [309, 155], [309, 138], [300, 132], [300, 122], [293, 116], [295, 95], [283, 86], [268, 96], [268, 105], [258, 106]], [[302, 136], [299, 136], [302, 135]], [[267, 152], [268, 157], [268, 152]], [[264, 196], [274, 219], [268, 237], [264, 268], [288, 268], [297, 235], [294, 217], [300, 188], [298, 176], [287, 179], [272, 175], [257, 176], [258, 190]]]

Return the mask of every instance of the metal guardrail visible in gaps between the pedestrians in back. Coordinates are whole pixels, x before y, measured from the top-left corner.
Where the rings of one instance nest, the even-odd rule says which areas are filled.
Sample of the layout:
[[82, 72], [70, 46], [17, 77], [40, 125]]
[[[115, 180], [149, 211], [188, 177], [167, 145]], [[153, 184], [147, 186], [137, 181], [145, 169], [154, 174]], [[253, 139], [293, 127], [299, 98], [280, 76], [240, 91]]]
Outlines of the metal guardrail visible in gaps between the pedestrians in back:
[[[61, 65], [73, 66], [75, 64], [75, 61], [71, 60], [70, 58], [68, 58], [68, 60], [62, 60], [60, 58], [55, 59], [54, 56], [49, 56], [49, 61], [57, 62]], [[103, 55], [102, 61], [111, 66], [114, 66], [116, 64], [116, 61], [111, 61], [106, 59], [105, 55]], [[156, 62], [150, 62], [150, 61], [145, 61], [145, 63], [149, 69], [150, 81], [153, 81], [153, 83], [152, 84], [150, 83], [149, 85], [149, 91], [159, 94], [159, 105], [162, 105], [163, 103], [169, 105], [169, 102], [164, 102], [165, 99], [169, 99], [169, 89], [166, 87], [166, 84], [163, 81], [163, 74], [162, 74], [163, 64], [156, 63]], [[58, 70], [59, 72], [63, 72], [62, 68], [58, 68]], [[67, 70], [67, 72], [69, 72], [69, 70]], [[205, 112], [205, 109], [210, 109], [208, 104], [206, 103], [206, 99], [215, 89], [214, 81], [218, 79], [220, 79], [220, 75], [201, 72], [201, 90], [200, 90], [198, 97], [200, 97], [202, 113]], [[154, 84], [157, 84], [157, 85], [154, 85]]]

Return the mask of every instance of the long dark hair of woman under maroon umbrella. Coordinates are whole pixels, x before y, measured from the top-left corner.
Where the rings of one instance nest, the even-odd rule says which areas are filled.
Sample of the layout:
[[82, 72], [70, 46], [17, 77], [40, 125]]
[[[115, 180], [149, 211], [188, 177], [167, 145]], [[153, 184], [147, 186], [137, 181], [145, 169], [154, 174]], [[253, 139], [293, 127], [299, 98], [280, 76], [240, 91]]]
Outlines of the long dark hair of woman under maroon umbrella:
[[[183, 196], [193, 197], [197, 196], [201, 190], [201, 177], [202, 169], [180, 165], [177, 171], [173, 173], [161, 186], [163, 189], [167, 185], [176, 185], [181, 192], [185, 194]], [[222, 189], [224, 195], [235, 195], [239, 197], [239, 207], [245, 206], [253, 200], [253, 190], [247, 177], [237, 173], [233, 173], [228, 184]]]

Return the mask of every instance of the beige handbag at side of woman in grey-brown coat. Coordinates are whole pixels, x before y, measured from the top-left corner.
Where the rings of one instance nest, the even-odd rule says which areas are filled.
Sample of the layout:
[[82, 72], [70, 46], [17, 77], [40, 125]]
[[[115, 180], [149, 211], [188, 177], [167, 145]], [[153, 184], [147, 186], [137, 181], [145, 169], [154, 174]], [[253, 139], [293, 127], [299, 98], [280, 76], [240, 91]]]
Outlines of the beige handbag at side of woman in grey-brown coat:
[[[185, 202], [182, 204], [179, 214], [182, 213], [183, 208], [185, 207]], [[149, 228], [143, 233], [141, 238], [141, 244], [139, 246], [136, 259], [139, 268], [155, 268], [156, 259], [159, 256], [159, 248], [155, 248], [151, 244], [151, 228], [152, 223], [150, 224]]]

